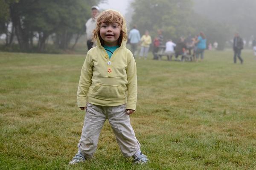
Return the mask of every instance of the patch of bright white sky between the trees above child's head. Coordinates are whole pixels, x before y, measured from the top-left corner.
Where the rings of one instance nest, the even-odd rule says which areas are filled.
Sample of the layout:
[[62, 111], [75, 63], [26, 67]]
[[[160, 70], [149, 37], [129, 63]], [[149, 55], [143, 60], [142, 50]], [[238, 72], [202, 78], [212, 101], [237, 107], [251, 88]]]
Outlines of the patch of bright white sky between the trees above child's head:
[[125, 15], [128, 4], [128, 0], [107, 0], [106, 3], [99, 4], [99, 8], [114, 9], [116, 11], [119, 11], [122, 15]]

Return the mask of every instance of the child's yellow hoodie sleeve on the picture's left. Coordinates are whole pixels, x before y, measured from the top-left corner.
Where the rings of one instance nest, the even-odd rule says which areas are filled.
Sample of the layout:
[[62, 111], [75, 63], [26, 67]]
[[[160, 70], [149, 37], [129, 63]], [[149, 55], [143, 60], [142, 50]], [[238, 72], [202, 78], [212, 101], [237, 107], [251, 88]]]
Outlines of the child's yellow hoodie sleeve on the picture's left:
[[91, 57], [89, 52], [87, 52], [84, 65], [81, 70], [81, 76], [79, 79], [79, 85], [77, 89], [77, 106], [86, 107], [87, 106], [87, 92], [91, 85], [91, 78], [93, 76], [93, 63], [91, 61]]

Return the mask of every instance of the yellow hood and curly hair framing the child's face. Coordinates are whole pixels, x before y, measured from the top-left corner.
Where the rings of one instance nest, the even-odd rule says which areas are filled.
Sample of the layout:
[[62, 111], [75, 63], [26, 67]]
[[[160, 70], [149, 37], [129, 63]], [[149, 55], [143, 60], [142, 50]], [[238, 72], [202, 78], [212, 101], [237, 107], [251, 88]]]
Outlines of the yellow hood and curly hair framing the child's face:
[[103, 42], [103, 40], [100, 38], [100, 35], [99, 35], [100, 24], [102, 22], [118, 23], [121, 26], [119, 43], [121, 48], [125, 48], [126, 42], [127, 42], [127, 27], [126, 27], [125, 18], [122, 16], [122, 14], [119, 11], [115, 11], [112, 9], [103, 11], [102, 13], [99, 14], [96, 20], [96, 28], [93, 30], [93, 40], [96, 41], [96, 45], [99, 48], [103, 48], [101, 43]]

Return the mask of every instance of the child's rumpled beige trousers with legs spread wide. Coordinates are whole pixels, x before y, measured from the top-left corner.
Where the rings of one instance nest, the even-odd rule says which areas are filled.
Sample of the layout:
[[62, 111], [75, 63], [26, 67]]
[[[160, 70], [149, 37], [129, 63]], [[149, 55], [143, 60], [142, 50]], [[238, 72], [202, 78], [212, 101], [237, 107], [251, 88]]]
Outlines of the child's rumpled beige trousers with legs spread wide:
[[108, 119], [116, 141], [123, 156], [130, 157], [140, 150], [140, 143], [131, 127], [130, 117], [126, 114], [126, 105], [99, 106], [88, 103], [81, 139], [78, 144], [79, 152], [91, 158], [98, 144], [99, 133]]

